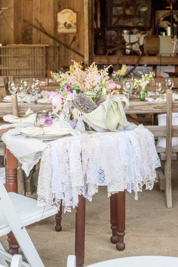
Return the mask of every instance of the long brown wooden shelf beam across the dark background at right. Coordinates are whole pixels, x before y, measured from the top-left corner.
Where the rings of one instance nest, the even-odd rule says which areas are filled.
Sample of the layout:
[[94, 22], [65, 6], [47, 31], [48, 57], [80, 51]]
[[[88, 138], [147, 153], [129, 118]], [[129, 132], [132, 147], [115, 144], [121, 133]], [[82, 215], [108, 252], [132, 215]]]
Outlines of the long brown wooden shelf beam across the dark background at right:
[[[139, 56], [94, 56], [96, 64], [136, 64]], [[139, 65], [178, 65], [178, 57], [142, 56]]]

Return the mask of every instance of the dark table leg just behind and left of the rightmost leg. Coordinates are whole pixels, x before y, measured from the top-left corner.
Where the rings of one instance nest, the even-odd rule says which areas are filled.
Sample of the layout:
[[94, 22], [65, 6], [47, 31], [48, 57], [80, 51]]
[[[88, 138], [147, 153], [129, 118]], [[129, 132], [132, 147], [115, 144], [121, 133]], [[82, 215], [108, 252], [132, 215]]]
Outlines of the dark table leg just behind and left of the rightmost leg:
[[110, 222], [111, 222], [111, 243], [117, 243], [117, 223], [116, 223], [116, 194], [110, 196]]

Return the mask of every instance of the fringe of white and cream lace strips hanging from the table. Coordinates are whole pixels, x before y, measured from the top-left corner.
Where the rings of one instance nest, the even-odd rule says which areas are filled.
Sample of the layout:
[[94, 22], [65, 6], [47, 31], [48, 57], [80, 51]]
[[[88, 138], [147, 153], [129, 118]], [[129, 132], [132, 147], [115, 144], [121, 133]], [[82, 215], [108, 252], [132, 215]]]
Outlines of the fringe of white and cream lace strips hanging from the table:
[[108, 186], [108, 196], [126, 189], [131, 193], [153, 188], [160, 167], [153, 134], [139, 125], [132, 131], [94, 132], [48, 144], [38, 176], [38, 206], [78, 204], [78, 195], [92, 201], [98, 185]]

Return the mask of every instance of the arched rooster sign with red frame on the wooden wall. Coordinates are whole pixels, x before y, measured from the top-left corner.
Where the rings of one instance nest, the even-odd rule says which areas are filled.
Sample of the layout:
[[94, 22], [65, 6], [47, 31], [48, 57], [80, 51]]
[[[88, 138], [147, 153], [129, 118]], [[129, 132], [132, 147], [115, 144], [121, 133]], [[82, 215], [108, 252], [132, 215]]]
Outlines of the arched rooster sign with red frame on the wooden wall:
[[76, 33], [77, 13], [65, 8], [57, 12], [57, 33]]

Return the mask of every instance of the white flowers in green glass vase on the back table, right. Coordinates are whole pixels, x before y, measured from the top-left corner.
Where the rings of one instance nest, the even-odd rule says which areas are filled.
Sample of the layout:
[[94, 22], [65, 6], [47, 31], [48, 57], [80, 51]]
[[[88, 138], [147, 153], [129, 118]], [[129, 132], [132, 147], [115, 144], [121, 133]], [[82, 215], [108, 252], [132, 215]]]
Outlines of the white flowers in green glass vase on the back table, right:
[[140, 91], [140, 100], [145, 101], [145, 98], [147, 97], [148, 93], [146, 91], [146, 86], [149, 84], [149, 81], [153, 80], [152, 74], [148, 75], [142, 75], [140, 80], [136, 80], [135, 83], [133, 84], [133, 88], [141, 86], [141, 91]]

